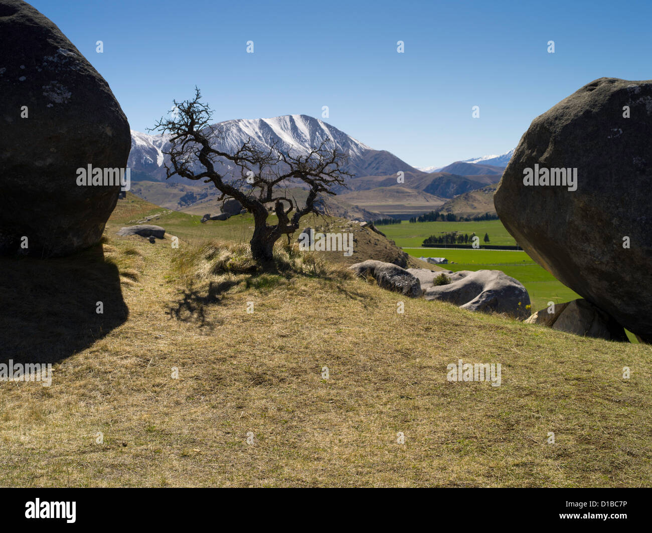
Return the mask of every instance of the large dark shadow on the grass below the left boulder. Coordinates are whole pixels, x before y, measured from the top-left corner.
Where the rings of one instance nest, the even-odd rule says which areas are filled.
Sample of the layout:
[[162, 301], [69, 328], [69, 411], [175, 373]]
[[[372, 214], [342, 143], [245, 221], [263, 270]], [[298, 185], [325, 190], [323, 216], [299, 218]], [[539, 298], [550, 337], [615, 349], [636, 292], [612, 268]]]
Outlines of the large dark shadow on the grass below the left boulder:
[[0, 363], [60, 362], [128, 317], [101, 244], [57, 259], [0, 257], [0, 272]]

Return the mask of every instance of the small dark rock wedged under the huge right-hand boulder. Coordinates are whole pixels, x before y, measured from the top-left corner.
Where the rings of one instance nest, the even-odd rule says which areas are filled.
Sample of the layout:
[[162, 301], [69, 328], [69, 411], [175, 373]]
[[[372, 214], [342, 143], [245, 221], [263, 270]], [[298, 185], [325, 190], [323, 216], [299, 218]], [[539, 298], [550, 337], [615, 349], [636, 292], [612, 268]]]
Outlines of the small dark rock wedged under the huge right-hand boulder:
[[[552, 308], [550, 310], [552, 311]], [[554, 313], [549, 313], [548, 308], [537, 311], [526, 320], [526, 323], [541, 324], [554, 330], [585, 337], [627, 341], [623, 326], [582, 298], [565, 304], [556, 304]]]

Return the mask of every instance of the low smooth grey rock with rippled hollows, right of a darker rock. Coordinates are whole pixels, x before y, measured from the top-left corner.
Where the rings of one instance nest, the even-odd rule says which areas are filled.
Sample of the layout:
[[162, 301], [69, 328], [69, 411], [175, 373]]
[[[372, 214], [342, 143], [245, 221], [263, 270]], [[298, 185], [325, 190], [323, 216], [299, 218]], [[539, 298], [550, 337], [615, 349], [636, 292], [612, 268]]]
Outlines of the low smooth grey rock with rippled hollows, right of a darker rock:
[[451, 282], [446, 285], [433, 285], [432, 281], [426, 285], [426, 300], [449, 302], [469, 311], [505, 313], [518, 319], [530, 314], [526, 288], [500, 270], [460, 270], [447, 276]]

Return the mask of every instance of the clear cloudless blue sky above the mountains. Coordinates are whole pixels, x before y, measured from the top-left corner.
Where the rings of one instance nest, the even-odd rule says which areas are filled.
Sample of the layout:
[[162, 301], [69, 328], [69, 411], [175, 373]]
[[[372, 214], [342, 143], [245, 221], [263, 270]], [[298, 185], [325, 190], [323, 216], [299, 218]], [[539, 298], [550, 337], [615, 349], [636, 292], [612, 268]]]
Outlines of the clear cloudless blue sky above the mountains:
[[323, 120], [417, 167], [512, 149], [595, 78], [652, 78], [650, 0], [31, 4], [106, 78], [134, 130], [198, 85], [216, 122], [329, 106]]

